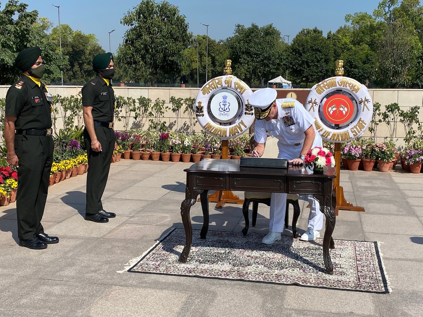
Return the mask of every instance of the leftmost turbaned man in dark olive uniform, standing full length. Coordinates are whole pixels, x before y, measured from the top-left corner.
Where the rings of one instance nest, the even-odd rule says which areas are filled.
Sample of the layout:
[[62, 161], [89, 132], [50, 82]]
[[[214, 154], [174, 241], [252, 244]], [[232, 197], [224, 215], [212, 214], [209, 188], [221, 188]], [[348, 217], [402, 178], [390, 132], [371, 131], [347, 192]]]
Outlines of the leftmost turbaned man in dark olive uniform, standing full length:
[[19, 246], [45, 249], [47, 244], [59, 242], [57, 237], [49, 237], [41, 225], [53, 163], [53, 99], [40, 82], [44, 74], [40, 47], [19, 52], [15, 66], [24, 76], [6, 94], [4, 136], [7, 161], [18, 170]]

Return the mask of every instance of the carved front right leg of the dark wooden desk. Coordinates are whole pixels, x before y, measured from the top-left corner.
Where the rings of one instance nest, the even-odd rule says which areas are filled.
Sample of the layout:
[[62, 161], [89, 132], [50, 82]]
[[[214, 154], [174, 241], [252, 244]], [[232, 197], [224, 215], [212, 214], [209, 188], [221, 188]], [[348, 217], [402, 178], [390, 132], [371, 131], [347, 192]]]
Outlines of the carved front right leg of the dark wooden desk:
[[333, 265], [332, 260], [330, 259], [329, 246], [335, 247], [335, 244], [332, 239], [333, 229], [335, 228], [335, 207], [336, 207], [336, 198], [335, 205], [333, 205], [333, 194], [328, 195], [327, 197], [316, 195], [314, 198], [319, 200], [320, 211], [326, 216], [326, 228], [324, 230], [323, 237], [323, 260], [326, 273], [333, 274]]

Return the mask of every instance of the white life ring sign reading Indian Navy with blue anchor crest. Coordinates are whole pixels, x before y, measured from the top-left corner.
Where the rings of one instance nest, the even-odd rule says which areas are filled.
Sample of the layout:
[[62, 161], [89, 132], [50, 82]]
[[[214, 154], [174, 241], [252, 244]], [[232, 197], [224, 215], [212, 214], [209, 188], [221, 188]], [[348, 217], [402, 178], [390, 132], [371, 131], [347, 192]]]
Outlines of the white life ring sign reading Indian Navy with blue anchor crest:
[[200, 126], [223, 140], [238, 137], [254, 121], [254, 108], [248, 103], [253, 91], [232, 75], [213, 78], [201, 87], [194, 112]]

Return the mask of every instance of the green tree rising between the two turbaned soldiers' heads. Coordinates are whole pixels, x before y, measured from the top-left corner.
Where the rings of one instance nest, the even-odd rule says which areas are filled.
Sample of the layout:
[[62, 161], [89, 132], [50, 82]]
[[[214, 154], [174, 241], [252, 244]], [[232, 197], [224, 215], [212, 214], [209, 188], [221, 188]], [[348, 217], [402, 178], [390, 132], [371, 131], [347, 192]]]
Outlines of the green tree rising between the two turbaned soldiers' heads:
[[[65, 82], [86, 82], [96, 76], [93, 71], [93, 57], [104, 53], [94, 34], [84, 34], [74, 31], [67, 24], [60, 25], [60, 37], [62, 53], [68, 56], [69, 64], [63, 69]], [[50, 38], [56, 45], [56, 51], [60, 51], [59, 27], [54, 27]]]

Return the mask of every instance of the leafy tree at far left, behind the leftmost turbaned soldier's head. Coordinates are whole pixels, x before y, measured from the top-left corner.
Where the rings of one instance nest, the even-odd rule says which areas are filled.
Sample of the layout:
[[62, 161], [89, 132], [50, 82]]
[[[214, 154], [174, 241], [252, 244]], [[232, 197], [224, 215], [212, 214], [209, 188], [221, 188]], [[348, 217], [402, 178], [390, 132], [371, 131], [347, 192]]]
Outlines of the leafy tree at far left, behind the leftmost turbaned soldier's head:
[[[1, 7], [1, 3], [0, 3]], [[47, 19], [38, 19], [38, 11], [26, 11], [28, 5], [9, 0], [0, 11], [0, 84], [11, 85], [22, 77], [14, 67], [19, 51], [31, 46], [41, 46], [46, 65], [43, 82], [60, 79], [60, 69], [66, 65], [66, 57], [56, 52], [45, 28]], [[47, 24], [46, 24], [47, 22]]]

